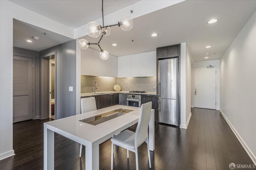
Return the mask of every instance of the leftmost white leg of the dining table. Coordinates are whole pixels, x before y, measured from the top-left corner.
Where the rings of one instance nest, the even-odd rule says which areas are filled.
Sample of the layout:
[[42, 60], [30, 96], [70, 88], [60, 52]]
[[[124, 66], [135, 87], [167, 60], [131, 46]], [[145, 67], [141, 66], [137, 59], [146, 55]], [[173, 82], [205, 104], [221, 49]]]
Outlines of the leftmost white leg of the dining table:
[[44, 127], [44, 170], [54, 170], [54, 132]]

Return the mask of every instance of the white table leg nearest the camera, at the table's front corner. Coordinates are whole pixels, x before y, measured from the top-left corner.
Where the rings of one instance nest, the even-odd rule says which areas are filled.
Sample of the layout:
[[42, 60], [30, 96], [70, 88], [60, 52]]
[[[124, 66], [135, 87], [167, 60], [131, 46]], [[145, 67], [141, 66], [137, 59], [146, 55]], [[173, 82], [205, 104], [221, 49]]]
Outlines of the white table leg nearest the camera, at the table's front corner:
[[98, 170], [100, 168], [99, 145], [94, 148], [85, 147], [85, 169]]

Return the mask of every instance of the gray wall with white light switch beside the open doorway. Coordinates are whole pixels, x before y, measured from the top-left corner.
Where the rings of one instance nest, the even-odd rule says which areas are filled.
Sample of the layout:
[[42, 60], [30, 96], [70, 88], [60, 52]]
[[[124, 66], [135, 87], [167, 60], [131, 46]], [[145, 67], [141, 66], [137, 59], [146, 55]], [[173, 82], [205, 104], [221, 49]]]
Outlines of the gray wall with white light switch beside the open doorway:
[[[54, 51], [56, 51], [55, 119], [60, 119], [76, 115], [76, 40], [40, 51], [40, 56]], [[43, 60], [41, 58], [41, 61]], [[41, 85], [42, 83], [44, 82], [40, 82]], [[68, 91], [69, 86], [73, 87], [73, 91]]]

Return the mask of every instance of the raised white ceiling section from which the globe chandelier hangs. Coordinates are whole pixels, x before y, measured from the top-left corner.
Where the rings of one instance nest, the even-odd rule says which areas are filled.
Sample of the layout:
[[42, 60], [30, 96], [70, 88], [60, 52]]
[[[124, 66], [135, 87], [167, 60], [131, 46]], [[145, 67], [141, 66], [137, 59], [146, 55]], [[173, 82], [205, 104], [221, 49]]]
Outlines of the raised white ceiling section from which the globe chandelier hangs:
[[[10, 0], [70, 28], [102, 17], [102, 0]], [[104, 16], [139, 0], [104, 0]]]

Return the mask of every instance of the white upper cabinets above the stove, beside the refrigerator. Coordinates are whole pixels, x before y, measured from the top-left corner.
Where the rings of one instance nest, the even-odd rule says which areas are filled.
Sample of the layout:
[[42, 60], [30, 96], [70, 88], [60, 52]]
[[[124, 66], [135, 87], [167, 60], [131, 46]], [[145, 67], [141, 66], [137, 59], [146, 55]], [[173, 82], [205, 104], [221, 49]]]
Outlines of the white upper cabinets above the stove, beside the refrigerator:
[[156, 76], [156, 51], [118, 57], [118, 77]]

